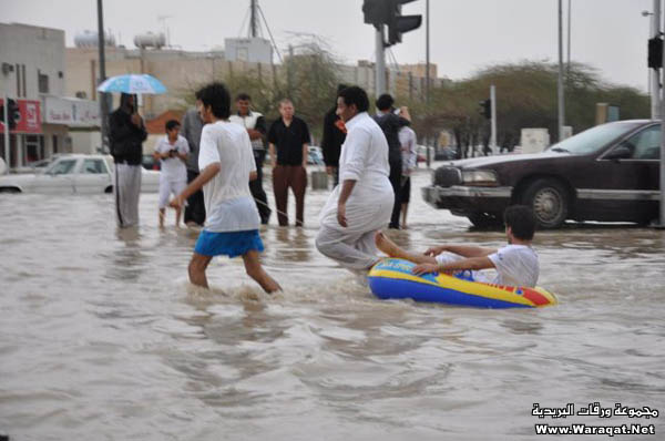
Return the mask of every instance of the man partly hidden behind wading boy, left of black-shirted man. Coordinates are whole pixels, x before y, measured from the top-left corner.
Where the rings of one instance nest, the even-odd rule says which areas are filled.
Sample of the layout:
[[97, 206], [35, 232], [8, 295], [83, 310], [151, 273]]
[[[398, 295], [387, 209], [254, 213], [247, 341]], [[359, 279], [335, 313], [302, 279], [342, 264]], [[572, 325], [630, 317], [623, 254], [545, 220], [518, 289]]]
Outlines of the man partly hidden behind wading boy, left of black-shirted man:
[[235, 115], [231, 115], [228, 121], [241, 124], [247, 130], [249, 141], [252, 141], [252, 150], [254, 151], [254, 161], [256, 162], [256, 180], [249, 182], [249, 191], [256, 202], [256, 208], [260, 216], [260, 223], [266, 225], [270, 218], [270, 207], [268, 206], [268, 197], [263, 189], [263, 163], [266, 157], [266, 148], [264, 147], [264, 136], [266, 135], [266, 121], [258, 112], [249, 110], [252, 98], [246, 93], [241, 93], [236, 98]]

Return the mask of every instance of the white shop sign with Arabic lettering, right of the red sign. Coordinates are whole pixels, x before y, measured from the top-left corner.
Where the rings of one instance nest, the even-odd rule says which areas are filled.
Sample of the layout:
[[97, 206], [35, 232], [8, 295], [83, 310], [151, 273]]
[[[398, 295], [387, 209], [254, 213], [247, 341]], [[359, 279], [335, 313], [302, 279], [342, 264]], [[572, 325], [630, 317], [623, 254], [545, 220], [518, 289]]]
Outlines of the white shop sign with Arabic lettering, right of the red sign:
[[95, 101], [71, 98], [45, 96], [44, 123], [70, 127], [94, 127], [100, 125], [100, 105]]

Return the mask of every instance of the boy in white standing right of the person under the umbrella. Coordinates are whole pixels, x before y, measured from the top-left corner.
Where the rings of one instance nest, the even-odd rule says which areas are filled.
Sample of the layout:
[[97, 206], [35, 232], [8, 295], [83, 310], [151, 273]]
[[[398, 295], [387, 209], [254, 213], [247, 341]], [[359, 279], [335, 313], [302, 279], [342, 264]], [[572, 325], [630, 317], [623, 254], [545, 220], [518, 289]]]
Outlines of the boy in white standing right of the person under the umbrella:
[[[166, 122], [166, 136], [160, 140], [153, 156], [160, 160], [160, 228], [164, 227], [165, 208], [168, 197], [182, 193], [187, 186], [187, 154], [190, 145], [180, 134], [180, 123], [175, 120]], [[180, 226], [181, 209], [175, 211], [175, 226]]]

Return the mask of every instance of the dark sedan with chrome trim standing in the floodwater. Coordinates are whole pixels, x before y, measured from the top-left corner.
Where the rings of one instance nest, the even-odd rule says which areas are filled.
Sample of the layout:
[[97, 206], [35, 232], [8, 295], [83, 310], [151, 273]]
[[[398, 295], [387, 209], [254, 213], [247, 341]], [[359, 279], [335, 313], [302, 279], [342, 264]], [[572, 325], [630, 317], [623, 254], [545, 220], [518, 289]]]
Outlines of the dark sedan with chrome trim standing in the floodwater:
[[500, 225], [512, 204], [531, 206], [541, 228], [565, 219], [647, 224], [658, 215], [659, 154], [659, 122], [612, 122], [536, 154], [450, 162], [422, 196], [477, 226]]

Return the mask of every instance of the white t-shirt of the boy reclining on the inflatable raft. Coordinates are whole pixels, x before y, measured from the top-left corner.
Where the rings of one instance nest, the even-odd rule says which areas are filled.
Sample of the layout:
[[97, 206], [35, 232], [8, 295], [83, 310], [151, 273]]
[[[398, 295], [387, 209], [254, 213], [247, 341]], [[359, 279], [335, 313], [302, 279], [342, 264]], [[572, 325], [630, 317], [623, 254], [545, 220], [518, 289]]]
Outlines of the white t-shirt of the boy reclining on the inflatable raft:
[[526, 245], [507, 245], [488, 256], [497, 267], [497, 285], [530, 286], [538, 283], [538, 254]]

